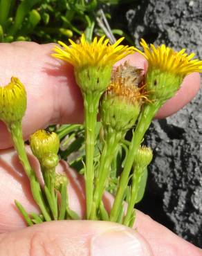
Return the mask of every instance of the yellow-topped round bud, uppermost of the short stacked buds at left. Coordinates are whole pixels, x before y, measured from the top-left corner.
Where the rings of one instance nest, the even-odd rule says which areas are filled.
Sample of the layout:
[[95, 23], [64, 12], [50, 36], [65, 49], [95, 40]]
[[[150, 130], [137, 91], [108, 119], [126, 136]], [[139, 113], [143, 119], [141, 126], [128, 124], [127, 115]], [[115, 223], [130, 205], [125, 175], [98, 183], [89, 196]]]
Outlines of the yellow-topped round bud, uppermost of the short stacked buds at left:
[[59, 137], [55, 132], [50, 134], [44, 130], [36, 131], [30, 136], [30, 147], [39, 162], [42, 162], [42, 159], [50, 154], [57, 155], [59, 150]]

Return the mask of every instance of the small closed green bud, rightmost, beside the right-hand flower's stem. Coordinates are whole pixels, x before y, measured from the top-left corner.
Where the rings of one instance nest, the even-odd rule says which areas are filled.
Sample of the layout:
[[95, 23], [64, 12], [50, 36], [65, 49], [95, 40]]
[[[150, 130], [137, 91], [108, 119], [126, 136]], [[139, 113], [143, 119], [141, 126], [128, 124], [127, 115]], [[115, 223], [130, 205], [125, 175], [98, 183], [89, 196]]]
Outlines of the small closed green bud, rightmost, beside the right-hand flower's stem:
[[151, 163], [152, 157], [153, 154], [152, 149], [150, 147], [139, 147], [134, 158], [134, 164], [138, 165], [139, 167], [142, 167], [143, 170], [145, 170], [145, 167], [147, 167], [147, 165]]

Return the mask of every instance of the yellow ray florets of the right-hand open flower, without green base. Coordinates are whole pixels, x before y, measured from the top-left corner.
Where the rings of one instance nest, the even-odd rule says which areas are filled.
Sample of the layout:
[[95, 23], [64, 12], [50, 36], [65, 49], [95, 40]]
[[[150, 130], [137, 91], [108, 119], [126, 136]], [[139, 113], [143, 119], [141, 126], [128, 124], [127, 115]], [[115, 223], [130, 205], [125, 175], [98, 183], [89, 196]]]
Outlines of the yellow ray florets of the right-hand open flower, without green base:
[[192, 72], [202, 72], [202, 61], [192, 60], [195, 54], [187, 55], [185, 49], [176, 52], [165, 44], [157, 47], [150, 44], [149, 47], [144, 39], [141, 39], [140, 45], [143, 46], [144, 52], [137, 48], [135, 48], [135, 51], [138, 51], [147, 59], [151, 68], [154, 67], [183, 76]]

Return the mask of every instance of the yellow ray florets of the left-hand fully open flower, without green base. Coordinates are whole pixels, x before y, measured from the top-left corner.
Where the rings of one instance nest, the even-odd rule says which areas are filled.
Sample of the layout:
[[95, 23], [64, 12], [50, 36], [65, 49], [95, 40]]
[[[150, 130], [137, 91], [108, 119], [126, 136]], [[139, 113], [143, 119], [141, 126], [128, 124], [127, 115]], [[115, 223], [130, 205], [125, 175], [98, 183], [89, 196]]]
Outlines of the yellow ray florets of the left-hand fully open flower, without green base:
[[55, 46], [53, 56], [71, 63], [75, 68], [112, 66], [118, 60], [134, 52], [134, 47], [120, 45], [123, 39], [124, 37], [111, 45], [109, 39], [104, 39], [103, 36], [99, 40], [95, 37], [93, 42], [89, 43], [82, 34], [80, 44], [75, 44], [71, 39], [68, 40], [71, 43], [70, 46], [58, 42], [63, 48]]

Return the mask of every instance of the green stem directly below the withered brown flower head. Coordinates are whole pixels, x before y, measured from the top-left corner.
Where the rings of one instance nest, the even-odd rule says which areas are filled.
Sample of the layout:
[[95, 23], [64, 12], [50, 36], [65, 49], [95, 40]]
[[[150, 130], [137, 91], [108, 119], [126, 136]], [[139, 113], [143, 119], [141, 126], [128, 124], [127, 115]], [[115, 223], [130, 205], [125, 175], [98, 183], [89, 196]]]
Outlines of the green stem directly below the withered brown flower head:
[[102, 195], [106, 186], [107, 178], [110, 174], [111, 162], [118, 149], [118, 143], [122, 138], [122, 133], [114, 129], [107, 129], [104, 147], [100, 156], [100, 165], [98, 176], [95, 180], [95, 192], [93, 195], [93, 206], [91, 211], [91, 219], [97, 219], [97, 210], [102, 200]]

